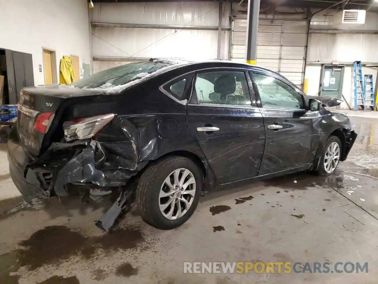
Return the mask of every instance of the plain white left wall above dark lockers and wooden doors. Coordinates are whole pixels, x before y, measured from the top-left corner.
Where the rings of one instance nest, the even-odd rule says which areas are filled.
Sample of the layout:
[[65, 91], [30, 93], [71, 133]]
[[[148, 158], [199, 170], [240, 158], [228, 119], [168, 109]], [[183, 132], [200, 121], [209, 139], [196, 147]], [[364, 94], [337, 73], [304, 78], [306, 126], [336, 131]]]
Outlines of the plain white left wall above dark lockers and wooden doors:
[[32, 54], [34, 84], [45, 81], [42, 47], [56, 51], [58, 72], [63, 55], [79, 56], [80, 68], [90, 64], [87, 0], [0, 0], [0, 7], [0, 48]]

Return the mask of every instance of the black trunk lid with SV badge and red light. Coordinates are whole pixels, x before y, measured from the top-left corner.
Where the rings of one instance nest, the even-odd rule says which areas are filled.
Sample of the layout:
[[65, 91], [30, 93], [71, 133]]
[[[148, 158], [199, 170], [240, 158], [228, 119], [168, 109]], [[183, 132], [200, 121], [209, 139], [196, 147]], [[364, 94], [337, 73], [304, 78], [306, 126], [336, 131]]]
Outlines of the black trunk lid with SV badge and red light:
[[[21, 90], [17, 114], [17, 133], [20, 145], [32, 156], [40, 154], [43, 140], [59, 122], [58, 112], [83, 97], [104, 94], [105, 90], [80, 89], [66, 85], [28, 87]], [[45, 119], [48, 119], [45, 121]], [[46, 126], [45, 133], [35, 129], [36, 122]], [[44, 127], [42, 126], [42, 127]], [[51, 136], [51, 135], [50, 135]]]

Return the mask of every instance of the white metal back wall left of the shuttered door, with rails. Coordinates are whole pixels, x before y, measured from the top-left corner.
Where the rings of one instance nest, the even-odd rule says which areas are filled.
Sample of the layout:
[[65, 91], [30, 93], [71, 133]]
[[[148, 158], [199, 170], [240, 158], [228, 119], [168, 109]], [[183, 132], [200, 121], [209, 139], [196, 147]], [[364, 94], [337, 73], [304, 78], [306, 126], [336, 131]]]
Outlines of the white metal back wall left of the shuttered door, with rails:
[[[229, 58], [230, 11], [230, 3], [223, 3], [221, 59]], [[95, 72], [152, 57], [216, 59], [218, 15], [217, 2], [96, 3], [91, 10]]]

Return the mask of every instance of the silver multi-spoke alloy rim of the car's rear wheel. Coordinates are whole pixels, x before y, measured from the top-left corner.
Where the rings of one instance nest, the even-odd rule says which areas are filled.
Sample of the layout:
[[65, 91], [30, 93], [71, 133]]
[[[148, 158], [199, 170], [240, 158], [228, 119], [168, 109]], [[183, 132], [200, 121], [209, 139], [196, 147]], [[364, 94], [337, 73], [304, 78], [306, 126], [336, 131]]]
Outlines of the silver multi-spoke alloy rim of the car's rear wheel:
[[159, 208], [168, 220], [181, 218], [192, 206], [195, 197], [195, 178], [188, 169], [170, 173], [159, 192]]

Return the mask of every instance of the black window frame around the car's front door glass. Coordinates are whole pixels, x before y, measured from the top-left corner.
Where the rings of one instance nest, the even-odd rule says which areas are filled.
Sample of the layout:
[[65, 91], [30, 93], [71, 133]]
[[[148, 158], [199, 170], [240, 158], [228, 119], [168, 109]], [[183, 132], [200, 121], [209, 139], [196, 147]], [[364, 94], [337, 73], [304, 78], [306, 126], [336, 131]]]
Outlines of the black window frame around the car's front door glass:
[[[262, 101], [261, 101], [261, 98], [260, 98], [259, 87], [256, 84], [256, 79], [254, 77], [254, 73], [273, 77], [274, 79], [277, 79], [277, 80], [281, 81], [282, 83], [285, 83], [288, 86], [292, 87], [294, 89], [294, 91], [296, 91], [299, 95], [301, 95], [304, 109], [287, 109], [287, 108], [285, 109], [285, 108], [263, 107], [262, 106]], [[308, 111], [308, 98], [304, 94], [302, 94], [301, 90], [299, 90], [298, 87], [295, 86], [290, 81], [283, 80], [282, 78], [280, 78], [280, 76], [277, 76], [276, 73], [269, 72], [268, 70], [266, 70], [266, 71], [265, 70], [249, 70], [249, 75], [252, 78], [252, 84], [253, 84], [255, 96], [256, 96], [256, 99], [257, 99], [257, 106], [259, 108], [273, 110], [273, 111], [289, 111], [289, 112], [293, 112], [293, 111], [294, 112], [307, 112]]]

